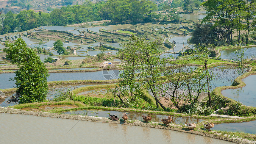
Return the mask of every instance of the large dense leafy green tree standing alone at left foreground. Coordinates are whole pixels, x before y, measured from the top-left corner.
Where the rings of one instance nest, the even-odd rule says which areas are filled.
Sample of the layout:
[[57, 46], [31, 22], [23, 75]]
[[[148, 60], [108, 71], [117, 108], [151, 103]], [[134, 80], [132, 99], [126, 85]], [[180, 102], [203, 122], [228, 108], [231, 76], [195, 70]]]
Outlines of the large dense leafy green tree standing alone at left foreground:
[[45, 101], [49, 74], [40, 57], [34, 49], [27, 47], [21, 38], [16, 39], [14, 43], [7, 42], [6, 47], [4, 48], [6, 58], [10, 59], [11, 63], [18, 64], [16, 77], [12, 79], [15, 80], [17, 91], [9, 102], [23, 104]]

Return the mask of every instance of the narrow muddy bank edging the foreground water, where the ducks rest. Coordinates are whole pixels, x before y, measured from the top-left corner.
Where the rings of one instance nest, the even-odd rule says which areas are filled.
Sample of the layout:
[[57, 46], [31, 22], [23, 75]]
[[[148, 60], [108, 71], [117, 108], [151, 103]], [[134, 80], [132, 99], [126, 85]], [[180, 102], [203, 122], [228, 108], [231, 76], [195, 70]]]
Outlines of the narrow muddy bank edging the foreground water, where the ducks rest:
[[0, 112], [4, 113], [13, 113], [13, 114], [26, 114], [26, 115], [36, 115], [36, 116], [43, 116], [43, 117], [52, 117], [52, 118], [65, 118], [65, 119], [73, 119], [73, 120], [85, 120], [85, 121], [94, 121], [94, 122], [104, 122], [104, 123], [116, 123], [116, 124], [126, 124], [126, 125], [133, 125], [133, 126], [144, 126], [144, 127], [152, 127], [157, 129], [167, 129], [167, 130], [174, 130], [178, 132], [187, 132], [191, 134], [202, 135], [206, 137], [217, 138], [220, 140], [227, 140], [234, 143], [254, 143], [255, 141], [249, 141], [246, 139], [241, 139], [238, 137], [230, 137], [230, 136], [222, 136], [218, 134], [218, 132], [198, 132], [198, 131], [190, 131], [189, 129], [182, 128], [181, 125], [170, 125], [165, 126], [164, 124], [158, 123], [145, 123], [142, 121], [135, 121], [135, 120], [127, 120], [124, 123], [122, 120], [112, 121], [108, 118], [101, 118], [101, 117], [93, 117], [93, 116], [82, 116], [82, 115], [66, 115], [66, 114], [57, 114], [57, 113], [48, 113], [48, 112], [33, 112], [33, 111], [24, 111], [20, 109], [13, 109], [13, 108], [4, 108], [0, 107]]

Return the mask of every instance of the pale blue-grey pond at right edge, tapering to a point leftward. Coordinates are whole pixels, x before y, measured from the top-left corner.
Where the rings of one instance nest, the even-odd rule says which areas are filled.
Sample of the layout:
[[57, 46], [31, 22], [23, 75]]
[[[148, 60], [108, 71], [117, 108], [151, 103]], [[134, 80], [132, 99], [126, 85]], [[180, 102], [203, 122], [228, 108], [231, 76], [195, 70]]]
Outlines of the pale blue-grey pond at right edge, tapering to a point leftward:
[[256, 75], [248, 76], [242, 79], [242, 81], [246, 84], [245, 87], [222, 90], [221, 94], [235, 101], [240, 101], [243, 105], [256, 107]]

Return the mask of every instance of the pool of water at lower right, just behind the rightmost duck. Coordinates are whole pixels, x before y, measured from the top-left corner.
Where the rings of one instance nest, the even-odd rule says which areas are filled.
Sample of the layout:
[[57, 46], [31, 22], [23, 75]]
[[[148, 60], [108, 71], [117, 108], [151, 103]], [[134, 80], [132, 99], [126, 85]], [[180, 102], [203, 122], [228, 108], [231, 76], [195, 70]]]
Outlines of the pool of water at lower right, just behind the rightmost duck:
[[214, 127], [211, 129], [256, 134], [256, 120], [243, 123], [220, 123], [214, 125]]

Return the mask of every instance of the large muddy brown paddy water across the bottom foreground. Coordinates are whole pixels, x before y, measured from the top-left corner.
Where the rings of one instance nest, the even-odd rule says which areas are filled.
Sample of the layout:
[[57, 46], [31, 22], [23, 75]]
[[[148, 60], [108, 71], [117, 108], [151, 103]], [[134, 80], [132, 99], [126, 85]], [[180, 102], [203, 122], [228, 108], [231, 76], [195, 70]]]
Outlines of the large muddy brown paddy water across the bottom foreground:
[[0, 113], [1, 143], [209, 143], [224, 140], [165, 129]]

